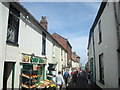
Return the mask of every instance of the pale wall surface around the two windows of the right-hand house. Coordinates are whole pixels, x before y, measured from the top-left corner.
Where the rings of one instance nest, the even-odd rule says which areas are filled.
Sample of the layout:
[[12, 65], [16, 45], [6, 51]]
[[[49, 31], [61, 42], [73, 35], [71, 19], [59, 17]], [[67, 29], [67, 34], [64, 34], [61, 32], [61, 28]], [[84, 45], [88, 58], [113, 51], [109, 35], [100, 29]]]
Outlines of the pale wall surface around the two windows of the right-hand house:
[[101, 17], [102, 42], [98, 44], [98, 25], [94, 29], [95, 52], [96, 52], [96, 80], [99, 85], [99, 55], [103, 53], [104, 81], [101, 87], [118, 87], [118, 56], [117, 35], [114, 19], [113, 3], [106, 5]]

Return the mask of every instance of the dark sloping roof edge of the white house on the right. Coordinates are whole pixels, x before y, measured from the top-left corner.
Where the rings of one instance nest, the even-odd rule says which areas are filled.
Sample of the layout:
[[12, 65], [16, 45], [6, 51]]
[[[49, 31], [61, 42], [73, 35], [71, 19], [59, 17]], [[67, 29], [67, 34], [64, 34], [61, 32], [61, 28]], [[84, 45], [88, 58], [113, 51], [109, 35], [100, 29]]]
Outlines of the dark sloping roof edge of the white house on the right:
[[94, 20], [94, 22], [93, 22], [93, 25], [92, 25], [92, 27], [91, 27], [91, 29], [90, 29], [89, 40], [88, 40], [88, 47], [87, 47], [88, 49], [89, 49], [89, 44], [90, 44], [90, 41], [91, 41], [92, 32], [94, 32], [94, 29], [95, 29], [95, 27], [96, 27], [96, 25], [97, 25], [97, 23], [98, 23], [98, 20], [100, 19], [101, 15], [102, 15], [102, 13], [103, 13], [103, 11], [104, 11], [104, 9], [105, 9], [105, 6], [106, 6], [106, 4], [107, 4], [107, 1], [108, 1], [108, 0], [106, 0], [106, 2], [103, 1], [103, 2], [101, 3], [100, 8], [99, 8], [98, 13], [97, 13], [97, 16], [96, 16], [96, 18], [95, 18], [95, 20]]

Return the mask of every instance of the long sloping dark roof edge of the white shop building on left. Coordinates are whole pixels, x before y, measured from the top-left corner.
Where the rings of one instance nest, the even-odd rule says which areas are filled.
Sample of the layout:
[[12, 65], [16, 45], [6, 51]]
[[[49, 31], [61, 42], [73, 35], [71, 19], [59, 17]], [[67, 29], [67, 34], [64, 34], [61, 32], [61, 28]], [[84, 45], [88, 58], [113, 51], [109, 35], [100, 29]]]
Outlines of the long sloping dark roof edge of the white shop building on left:
[[[11, 4], [12, 4], [13, 6], [15, 6], [15, 8], [17, 8], [18, 10], [20, 10], [20, 12], [21, 12], [22, 14], [24, 14], [24, 15], [26, 15], [26, 16], [29, 16], [29, 17], [30, 17], [30, 20], [34, 21], [34, 23], [35, 23], [37, 26], [39, 26], [39, 28], [41, 28], [41, 30], [42, 30], [45, 34], [49, 35], [55, 42], [57, 42], [57, 44], [59, 44], [59, 42], [58, 42], [56, 39], [54, 39], [54, 38], [52, 37], [52, 35], [40, 25], [40, 23], [34, 18], [34, 16], [33, 16], [30, 12], [28, 12], [28, 10], [27, 10], [26, 8], [24, 8], [23, 5], [20, 4], [20, 2], [12, 2]], [[17, 7], [16, 7], [16, 6], [17, 6]], [[59, 45], [60, 45], [60, 44], [59, 44]], [[62, 45], [60, 45], [60, 46], [64, 49], [64, 47], [63, 47]], [[64, 50], [66, 51], [66, 49], [64, 49]]]

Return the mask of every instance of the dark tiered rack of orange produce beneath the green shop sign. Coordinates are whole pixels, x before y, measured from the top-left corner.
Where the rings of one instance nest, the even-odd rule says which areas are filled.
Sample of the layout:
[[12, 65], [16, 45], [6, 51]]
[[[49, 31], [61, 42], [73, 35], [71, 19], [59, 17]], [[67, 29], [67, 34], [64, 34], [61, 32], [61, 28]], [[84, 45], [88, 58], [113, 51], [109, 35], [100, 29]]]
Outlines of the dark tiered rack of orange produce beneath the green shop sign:
[[[36, 67], [36, 70], [35, 70]], [[33, 89], [40, 82], [42, 76], [42, 64], [23, 63], [21, 69], [21, 88]]]

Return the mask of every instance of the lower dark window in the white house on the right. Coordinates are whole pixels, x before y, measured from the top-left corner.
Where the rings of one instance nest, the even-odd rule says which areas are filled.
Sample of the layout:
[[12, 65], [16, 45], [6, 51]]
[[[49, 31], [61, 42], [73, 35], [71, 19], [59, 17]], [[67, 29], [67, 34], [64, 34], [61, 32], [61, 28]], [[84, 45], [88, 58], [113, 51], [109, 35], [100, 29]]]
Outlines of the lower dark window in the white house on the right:
[[104, 61], [103, 54], [99, 55], [100, 82], [104, 84]]

